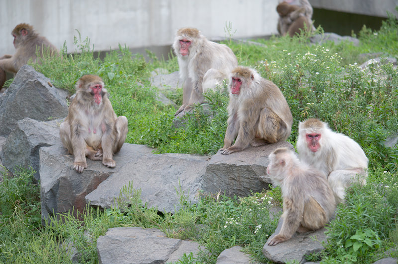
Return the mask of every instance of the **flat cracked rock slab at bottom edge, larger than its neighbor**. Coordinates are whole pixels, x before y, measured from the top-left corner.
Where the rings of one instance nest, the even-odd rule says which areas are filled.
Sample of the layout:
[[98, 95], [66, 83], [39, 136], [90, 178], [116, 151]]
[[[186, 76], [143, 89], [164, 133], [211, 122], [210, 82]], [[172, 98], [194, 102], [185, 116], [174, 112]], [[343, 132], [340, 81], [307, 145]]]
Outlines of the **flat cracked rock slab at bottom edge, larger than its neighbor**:
[[97, 240], [101, 264], [176, 262], [184, 253], [188, 255], [198, 251], [198, 243], [167, 238], [165, 233], [155, 228], [111, 228]]

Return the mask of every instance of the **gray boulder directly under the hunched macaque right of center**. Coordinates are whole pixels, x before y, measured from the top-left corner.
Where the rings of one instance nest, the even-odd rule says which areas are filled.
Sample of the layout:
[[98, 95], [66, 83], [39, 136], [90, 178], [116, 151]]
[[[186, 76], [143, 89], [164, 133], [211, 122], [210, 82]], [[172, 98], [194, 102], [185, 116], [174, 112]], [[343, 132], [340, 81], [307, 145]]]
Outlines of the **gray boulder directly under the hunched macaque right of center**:
[[293, 146], [286, 141], [269, 144], [229, 155], [220, 151], [211, 157], [204, 176], [202, 189], [206, 192], [221, 191], [229, 197], [248, 196], [251, 191], [261, 192], [272, 184], [267, 176], [268, 155], [275, 149]]

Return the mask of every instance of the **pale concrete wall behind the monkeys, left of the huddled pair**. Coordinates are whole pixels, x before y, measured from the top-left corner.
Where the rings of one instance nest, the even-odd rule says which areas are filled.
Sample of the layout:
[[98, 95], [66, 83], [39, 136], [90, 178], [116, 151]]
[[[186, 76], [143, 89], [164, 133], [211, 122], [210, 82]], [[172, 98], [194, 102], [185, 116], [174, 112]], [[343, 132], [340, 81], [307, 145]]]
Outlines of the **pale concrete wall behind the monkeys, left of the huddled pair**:
[[94, 50], [171, 45], [180, 27], [192, 26], [207, 38], [276, 33], [278, 0], [0, 0], [0, 56], [13, 54], [12, 29], [29, 23], [60, 48], [88, 37]]

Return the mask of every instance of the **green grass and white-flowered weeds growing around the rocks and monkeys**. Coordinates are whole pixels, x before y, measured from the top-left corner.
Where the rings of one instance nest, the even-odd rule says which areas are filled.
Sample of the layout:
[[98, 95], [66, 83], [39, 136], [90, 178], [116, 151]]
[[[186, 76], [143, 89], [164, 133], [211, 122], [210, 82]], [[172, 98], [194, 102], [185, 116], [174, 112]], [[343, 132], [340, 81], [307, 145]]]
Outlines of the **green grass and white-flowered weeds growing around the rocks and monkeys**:
[[[318, 32], [322, 32], [318, 28]], [[292, 135], [296, 143], [298, 121], [320, 118], [330, 127], [356, 140], [369, 158], [366, 186], [348, 190], [347, 202], [337, 208], [336, 219], [328, 227], [328, 243], [320, 254], [310, 256], [323, 263], [372, 262], [386, 256], [397, 258], [398, 243], [398, 149], [384, 143], [397, 135], [398, 72], [391, 64], [370, 65], [362, 71], [363, 53], [382, 52], [398, 58], [398, 22], [390, 18], [378, 31], [366, 27], [358, 34], [360, 45], [326, 42], [313, 45], [308, 36], [290, 39], [272, 37], [257, 40], [262, 46], [226, 41], [239, 64], [251, 66], [272, 80], [284, 93], [294, 117]], [[100, 75], [117, 115], [129, 121], [128, 143], [146, 144], [157, 153], [212, 155], [222, 147], [226, 130], [228, 96], [224, 92], [206, 94], [207, 110], [198, 106], [184, 128], [174, 128], [173, 107], [156, 102], [156, 88], [150, 85], [151, 71], [162, 67], [178, 70], [177, 60], [156, 58], [151, 62], [131, 54], [127, 47], [96, 58], [89, 40], [75, 39], [78, 52], [45, 59], [34, 67], [51, 78], [56, 87], [74, 92], [83, 74]], [[220, 89], [226, 88], [224, 84]], [[166, 94], [181, 104], [181, 89]], [[209, 115], [212, 118], [209, 118]], [[158, 215], [154, 208], [141, 206], [140, 190], [127, 186], [119, 208], [104, 211], [87, 208], [79, 220], [41, 225], [40, 193], [33, 183], [33, 171], [21, 168], [15, 177], [2, 176], [0, 184], [0, 263], [68, 263], [71, 243], [80, 253], [79, 262], [97, 263], [96, 240], [111, 227], [156, 227], [168, 236], [192, 239], [212, 254], [184, 256], [181, 263], [215, 263], [218, 254], [240, 245], [251, 257], [267, 263], [261, 249], [276, 227], [269, 217], [270, 204], [281, 202], [279, 189], [253, 193], [249, 197], [228, 198], [222, 194], [202, 195], [198, 204], [189, 204], [184, 193], [181, 209], [175, 214]], [[272, 199], [271, 199], [272, 198]], [[270, 203], [269, 203], [270, 202]]]

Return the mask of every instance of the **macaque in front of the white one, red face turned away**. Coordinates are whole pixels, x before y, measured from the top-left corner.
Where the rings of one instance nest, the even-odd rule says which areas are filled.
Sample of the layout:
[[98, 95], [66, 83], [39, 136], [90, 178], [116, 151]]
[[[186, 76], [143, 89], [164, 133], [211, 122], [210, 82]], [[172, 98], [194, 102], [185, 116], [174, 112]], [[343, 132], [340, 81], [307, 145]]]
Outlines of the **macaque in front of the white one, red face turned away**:
[[301, 163], [287, 148], [270, 154], [267, 174], [281, 187], [283, 200], [282, 227], [268, 240], [269, 246], [290, 239], [296, 231], [318, 230], [329, 222], [336, 203], [326, 175]]

